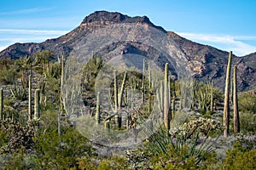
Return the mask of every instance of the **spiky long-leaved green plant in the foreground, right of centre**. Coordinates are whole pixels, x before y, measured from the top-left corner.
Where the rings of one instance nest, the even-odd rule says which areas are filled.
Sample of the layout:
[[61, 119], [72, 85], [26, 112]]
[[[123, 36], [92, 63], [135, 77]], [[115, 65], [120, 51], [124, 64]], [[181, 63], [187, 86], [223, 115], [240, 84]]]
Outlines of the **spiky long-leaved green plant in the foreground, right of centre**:
[[200, 131], [195, 130], [191, 134], [189, 127], [183, 127], [177, 129], [176, 133], [172, 135], [166, 135], [166, 128], [160, 127], [160, 129], [148, 138], [146, 147], [150, 150], [154, 157], [158, 157], [158, 161], [161, 160], [162, 166], [172, 163], [178, 165], [185, 163], [189, 159], [193, 159], [195, 166], [200, 166], [205, 157], [212, 153], [211, 140], [207, 138], [203, 139], [199, 144]]

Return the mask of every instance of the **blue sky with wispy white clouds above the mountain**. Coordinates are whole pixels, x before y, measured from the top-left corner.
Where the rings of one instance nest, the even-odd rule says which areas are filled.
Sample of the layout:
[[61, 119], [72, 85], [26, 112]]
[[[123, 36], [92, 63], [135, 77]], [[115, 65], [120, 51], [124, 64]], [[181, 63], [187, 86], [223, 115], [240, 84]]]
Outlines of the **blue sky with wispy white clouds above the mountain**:
[[167, 31], [238, 56], [256, 52], [254, 0], [4, 0], [0, 50], [15, 42], [59, 37], [96, 10], [146, 15]]

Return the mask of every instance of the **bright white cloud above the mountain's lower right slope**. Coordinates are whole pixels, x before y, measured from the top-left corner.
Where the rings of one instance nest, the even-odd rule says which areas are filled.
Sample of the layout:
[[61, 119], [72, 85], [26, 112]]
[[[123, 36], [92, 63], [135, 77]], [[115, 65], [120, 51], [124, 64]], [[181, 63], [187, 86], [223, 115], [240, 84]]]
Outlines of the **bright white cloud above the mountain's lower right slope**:
[[233, 51], [238, 56], [244, 56], [256, 52], [256, 47], [242, 41], [253, 41], [256, 37], [252, 36], [230, 36], [230, 35], [214, 35], [179, 32], [178, 35], [186, 37], [195, 42], [201, 42], [211, 45], [215, 48], [220, 48], [225, 51]]

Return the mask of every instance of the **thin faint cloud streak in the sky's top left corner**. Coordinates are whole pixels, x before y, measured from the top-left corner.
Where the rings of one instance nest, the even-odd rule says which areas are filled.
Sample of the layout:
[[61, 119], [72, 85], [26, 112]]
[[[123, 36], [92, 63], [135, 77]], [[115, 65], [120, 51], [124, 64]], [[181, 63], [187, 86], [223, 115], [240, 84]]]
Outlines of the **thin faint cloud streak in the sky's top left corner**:
[[15, 10], [15, 11], [6, 11], [1, 12], [0, 15], [11, 15], [11, 14], [32, 14], [32, 13], [39, 13], [44, 11], [49, 11], [54, 8], [26, 8], [22, 10]]

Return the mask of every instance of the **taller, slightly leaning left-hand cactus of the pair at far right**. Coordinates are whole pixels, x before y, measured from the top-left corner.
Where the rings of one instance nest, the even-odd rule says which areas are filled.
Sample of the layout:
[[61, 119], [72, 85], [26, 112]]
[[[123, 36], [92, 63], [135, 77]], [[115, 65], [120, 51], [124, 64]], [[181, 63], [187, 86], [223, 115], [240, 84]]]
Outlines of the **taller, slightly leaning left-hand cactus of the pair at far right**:
[[232, 60], [232, 51], [229, 54], [229, 62], [227, 65], [227, 74], [224, 92], [224, 137], [229, 135], [230, 131], [230, 68]]

